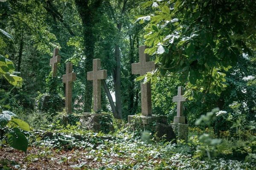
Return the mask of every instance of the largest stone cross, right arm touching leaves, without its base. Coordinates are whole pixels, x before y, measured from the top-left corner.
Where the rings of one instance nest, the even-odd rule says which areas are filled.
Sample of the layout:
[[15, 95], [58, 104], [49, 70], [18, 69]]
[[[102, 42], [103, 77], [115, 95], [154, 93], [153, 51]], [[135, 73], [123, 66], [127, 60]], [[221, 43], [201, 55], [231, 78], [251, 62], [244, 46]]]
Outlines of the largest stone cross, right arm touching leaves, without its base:
[[[149, 61], [149, 55], [145, 54], [146, 46], [139, 47], [139, 63], [131, 64], [131, 74], [140, 74], [143, 76], [147, 72], [154, 71], [156, 69], [154, 61]], [[150, 116], [152, 114], [152, 103], [151, 103], [151, 84], [147, 82], [143, 84], [140, 82], [140, 91], [141, 91], [141, 113], [144, 116]]]

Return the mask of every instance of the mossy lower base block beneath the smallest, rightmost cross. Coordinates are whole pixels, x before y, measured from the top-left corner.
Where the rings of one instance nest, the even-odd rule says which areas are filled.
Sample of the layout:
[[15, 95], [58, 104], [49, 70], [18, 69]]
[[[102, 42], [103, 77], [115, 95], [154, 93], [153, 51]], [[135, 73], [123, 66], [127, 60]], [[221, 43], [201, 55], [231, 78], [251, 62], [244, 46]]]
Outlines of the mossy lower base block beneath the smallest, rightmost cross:
[[172, 129], [177, 135], [177, 139], [183, 139], [188, 141], [189, 135], [189, 126], [188, 124], [180, 124], [180, 123], [171, 123]]

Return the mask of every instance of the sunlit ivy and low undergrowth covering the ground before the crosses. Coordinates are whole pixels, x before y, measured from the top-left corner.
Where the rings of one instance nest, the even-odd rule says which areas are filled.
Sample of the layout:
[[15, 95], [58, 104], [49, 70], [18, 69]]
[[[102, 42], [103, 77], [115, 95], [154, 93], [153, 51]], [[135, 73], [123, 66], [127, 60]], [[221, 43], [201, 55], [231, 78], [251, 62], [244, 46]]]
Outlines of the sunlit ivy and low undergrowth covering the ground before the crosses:
[[[74, 119], [75, 120], [75, 119]], [[93, 133], [76, 125], [64, 127], [60, 121], [45, 130], [26, 132], [29, 140], [27, 154], [15, 151], [1, 137], [3, 169], [256, 169], [255, 134], [248, 132], [247, 139], [230, 137], [223, 132], [222, 140], [216, 138], [211, 128], [189, 128], [189, 140], [170, 144], [163, 139], [141, 136], [143, 129], [114, 120], [115, 131]], [[5, 130], [8, 133], [8, 129]], [[143, 133], [144, 135], [145, 134]], [[208, 138], [204, 139], [204, 137]], [[202, 137], [203, 136], [203, 137]], [[144, 140], [142, 140], [144, 139]], [[207, 141], [211, 139], [210, 141]], [[217, 141], [216, 141], [217, 140]], [[9, 151], [8, 151], [9, 150]], [[12, 149], [13, 150], [13, 149]], [[13, 156], [14, 159], [10, 159]], [[47, 161], [46, 161], [47, 160]], [[47, 165], [44, 165], [47, 162]], [[48, 167], [47, 167], [48, 166]], [[41, 167], [41, 168], [40, 168]]]

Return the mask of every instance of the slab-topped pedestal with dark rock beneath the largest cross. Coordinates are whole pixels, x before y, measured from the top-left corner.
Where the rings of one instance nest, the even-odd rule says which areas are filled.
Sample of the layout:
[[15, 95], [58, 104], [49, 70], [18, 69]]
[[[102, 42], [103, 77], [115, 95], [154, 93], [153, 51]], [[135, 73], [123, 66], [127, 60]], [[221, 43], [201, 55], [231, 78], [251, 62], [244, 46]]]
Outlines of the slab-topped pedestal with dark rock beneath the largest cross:
[[176, 136], [174, 131], [172, 130], [172, 126], [168, 124], [167, 116], [140, 116], [137, 117], [136, 115], [128, 116], [128, 123], [133, 123], [141, 121], [141, 127], [146, 129], [150, 127], [150, 123], [155, 123], [153, 127], [150, 127], [155, 133], [157, 133], [157, 137], [161, 138], [162, 136], [166, 135], [165, 139], [166, 142], [177, 143]]

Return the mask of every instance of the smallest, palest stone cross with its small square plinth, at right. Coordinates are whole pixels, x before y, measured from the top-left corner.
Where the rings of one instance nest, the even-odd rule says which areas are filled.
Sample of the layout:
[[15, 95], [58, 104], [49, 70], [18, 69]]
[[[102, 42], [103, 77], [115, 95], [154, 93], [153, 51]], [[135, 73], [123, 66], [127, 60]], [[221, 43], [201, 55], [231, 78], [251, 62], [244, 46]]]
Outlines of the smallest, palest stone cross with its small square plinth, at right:
[[174, 117], [174, 123], [185, 123], [185, 117], [183, 116], [183, 102], [188, 99], [183, 98], [183, 87], [178, 87], [178, 95], [172, 97], [172, 102], [177, 102], [177, 116]]

